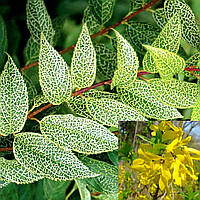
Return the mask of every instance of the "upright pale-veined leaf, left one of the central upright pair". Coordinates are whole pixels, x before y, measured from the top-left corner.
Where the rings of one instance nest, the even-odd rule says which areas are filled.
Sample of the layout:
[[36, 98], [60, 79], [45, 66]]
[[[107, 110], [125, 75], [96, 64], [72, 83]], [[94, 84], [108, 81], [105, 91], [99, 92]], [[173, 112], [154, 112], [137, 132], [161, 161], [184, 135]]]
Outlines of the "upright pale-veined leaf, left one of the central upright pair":
[[41, 34], [39, 78], [44, 96], [59, 105], [71, 96], [72, 86], [67, 63]]

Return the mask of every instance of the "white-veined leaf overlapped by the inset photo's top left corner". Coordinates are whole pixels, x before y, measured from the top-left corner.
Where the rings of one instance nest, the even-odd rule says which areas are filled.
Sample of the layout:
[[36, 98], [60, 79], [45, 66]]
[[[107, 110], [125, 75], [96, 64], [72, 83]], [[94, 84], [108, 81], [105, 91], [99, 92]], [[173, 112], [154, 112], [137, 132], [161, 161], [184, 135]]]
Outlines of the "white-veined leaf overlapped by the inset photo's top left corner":
[[106, 126], [118, 127], [119, 121], [146, 120], [136, 109], [113, 99], [87, 98], [86, 102], [90, 115]]

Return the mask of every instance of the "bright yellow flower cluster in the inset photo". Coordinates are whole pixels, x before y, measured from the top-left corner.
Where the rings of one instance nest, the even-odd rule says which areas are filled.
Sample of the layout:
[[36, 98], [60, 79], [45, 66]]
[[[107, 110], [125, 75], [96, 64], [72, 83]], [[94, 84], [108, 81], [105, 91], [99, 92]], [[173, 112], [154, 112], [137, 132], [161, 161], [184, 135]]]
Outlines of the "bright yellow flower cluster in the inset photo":
[[200, 151], [187, 146], [191, 136], [183, 139], [181, 124], [178, 128], [172, 122], [163, 121], [151, 125], [150, 129], [152, 136], [156, 136], [158, 131], [162, 132], [162, 149], [157, 153], [155, 145], [140, 145], [139, 158], [131, 166], [139, 172], [137, 178], [140, 184], [152, 188], [157, 186], [162, 192], [171, 194], [169, 183], [183, 186], [188, 181], [197, 180], [193, 160], [200, 160]]

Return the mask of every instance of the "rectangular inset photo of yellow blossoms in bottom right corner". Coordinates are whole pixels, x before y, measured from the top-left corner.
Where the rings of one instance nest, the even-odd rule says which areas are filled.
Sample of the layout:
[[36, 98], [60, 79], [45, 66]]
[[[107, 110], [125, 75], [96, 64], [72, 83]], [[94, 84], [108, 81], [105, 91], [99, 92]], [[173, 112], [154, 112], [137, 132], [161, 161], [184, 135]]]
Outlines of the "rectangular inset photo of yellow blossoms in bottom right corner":
[[119, 200], [200, 199], [199, 121], [120, 121]]

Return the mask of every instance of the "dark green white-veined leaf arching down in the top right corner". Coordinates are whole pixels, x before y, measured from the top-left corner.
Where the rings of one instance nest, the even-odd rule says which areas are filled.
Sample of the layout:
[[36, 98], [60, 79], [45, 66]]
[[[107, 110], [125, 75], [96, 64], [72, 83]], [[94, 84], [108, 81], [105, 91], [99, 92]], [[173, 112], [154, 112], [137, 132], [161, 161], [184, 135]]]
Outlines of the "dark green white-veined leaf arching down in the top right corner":
[[167, 0], [164, 9], [168, 19], [174, 13], [180, 13], [183, 39], [191, 46], [200, 48], [200, 32], [191, 8], [183, 0]]

